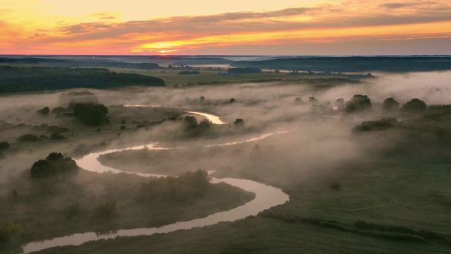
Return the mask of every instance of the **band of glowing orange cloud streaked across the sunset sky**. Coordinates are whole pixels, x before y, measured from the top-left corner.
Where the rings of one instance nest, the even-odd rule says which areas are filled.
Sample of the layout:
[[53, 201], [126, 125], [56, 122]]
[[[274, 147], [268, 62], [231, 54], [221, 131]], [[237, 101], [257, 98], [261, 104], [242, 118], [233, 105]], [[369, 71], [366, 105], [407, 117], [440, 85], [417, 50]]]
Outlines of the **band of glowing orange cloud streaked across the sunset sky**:
[[[11, 11], [4, 13], [11, 16]], [[86, 22], [57, 16], [53, 23], [25, 25], [0, 20], [0, 54], [168, 54], [239, 45], [433, 40], [449, 38], [451, 32], [449, 1], [331, 1], [276, 11], [128, 22], [116, 18], [120, 16], [97, 12]], [[447, 49], [442, 47], [443, 52]]]

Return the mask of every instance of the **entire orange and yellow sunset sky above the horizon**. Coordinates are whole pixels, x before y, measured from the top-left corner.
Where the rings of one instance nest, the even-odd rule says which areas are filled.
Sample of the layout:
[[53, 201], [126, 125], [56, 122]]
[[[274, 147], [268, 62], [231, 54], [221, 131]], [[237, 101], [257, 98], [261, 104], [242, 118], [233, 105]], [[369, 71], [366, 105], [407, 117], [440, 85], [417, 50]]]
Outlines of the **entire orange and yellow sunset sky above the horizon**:
[[0, 0], [0, 54], [443, 55], [451, 1]]

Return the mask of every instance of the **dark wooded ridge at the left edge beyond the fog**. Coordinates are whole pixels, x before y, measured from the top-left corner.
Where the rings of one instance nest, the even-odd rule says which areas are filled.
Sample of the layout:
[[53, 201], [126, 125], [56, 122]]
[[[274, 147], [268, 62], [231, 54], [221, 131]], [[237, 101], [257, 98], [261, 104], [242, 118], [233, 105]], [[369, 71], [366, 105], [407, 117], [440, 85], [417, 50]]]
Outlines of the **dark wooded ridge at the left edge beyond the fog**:
[[128, 85], [164, 87], [165, 83], [161, 78], [129, 73], [111, 73], [106, 68], [0, 66], [0, 93], [77, 87], [106, 89]]

